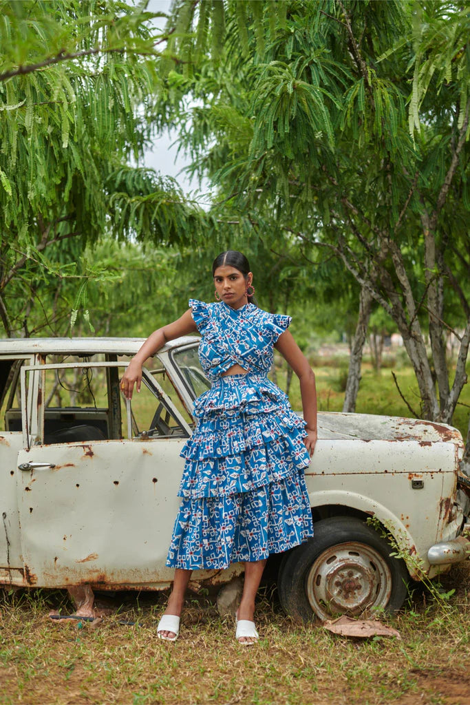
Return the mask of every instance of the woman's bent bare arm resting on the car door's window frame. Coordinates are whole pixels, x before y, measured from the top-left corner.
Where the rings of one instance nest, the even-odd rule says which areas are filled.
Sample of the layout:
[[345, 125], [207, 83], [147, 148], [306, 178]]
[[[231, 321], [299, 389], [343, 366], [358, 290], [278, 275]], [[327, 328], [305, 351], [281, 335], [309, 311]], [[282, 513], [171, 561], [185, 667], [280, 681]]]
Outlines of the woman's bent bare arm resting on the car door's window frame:
[[154, 355], [160, 348], [163, 348], [163, 345], [168, 341], [173, 341], [174, 338], [179, 338], [180, 336], [186, 336], [187, 333], [194, 333], [194, 331], [197, 331], [196, 324], [192, 319], [191, 309], [188, 309], [177, 321], [173, 321], [168, 326], [163, 326], [163, 328], [151, 333], [139, 352], [132, 357], [128, 369], [126, 369], [123, 379], [120, 381], [120, 388], [123, 390], [125, 398], [132, 399], [134, 385], [137, 391], [140, 392], [142, 365], [147, 358]]

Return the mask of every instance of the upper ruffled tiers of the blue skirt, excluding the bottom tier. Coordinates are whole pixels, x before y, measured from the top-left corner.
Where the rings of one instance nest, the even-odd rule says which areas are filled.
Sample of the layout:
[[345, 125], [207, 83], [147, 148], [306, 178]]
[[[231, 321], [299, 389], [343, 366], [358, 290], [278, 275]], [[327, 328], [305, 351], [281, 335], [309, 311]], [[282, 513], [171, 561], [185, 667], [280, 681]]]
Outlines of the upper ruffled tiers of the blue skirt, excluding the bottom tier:
[[199, 421], [181, 452], [178, 496], [250, 492], [309, 465], [304, 420], [266, 376], [221, 377], [195, 406]]

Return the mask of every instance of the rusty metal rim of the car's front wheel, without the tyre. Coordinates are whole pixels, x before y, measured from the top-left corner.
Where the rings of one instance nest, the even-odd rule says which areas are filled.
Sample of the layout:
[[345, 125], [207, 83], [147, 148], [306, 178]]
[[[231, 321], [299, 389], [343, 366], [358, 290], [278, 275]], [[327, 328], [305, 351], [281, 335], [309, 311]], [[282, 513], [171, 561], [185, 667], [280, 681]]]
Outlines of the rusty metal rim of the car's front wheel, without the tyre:
[[322, 619], [385, 607], [392, 591], [387, 561], [375, 548], [350, 541], [323, 551], [307, 574], [307, 596]]

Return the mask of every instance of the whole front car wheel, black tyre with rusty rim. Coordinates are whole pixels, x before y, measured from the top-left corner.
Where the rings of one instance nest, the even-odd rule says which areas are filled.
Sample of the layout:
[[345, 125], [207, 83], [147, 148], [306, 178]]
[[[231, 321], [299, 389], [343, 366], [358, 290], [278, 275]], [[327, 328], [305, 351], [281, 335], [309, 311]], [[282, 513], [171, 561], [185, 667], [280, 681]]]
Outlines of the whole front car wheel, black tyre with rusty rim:
[[365, 610], [400, 609], [409, 574], [373, 528], [354, 517], [316, 522], [314, 537], [286, 553], [278, 591], [288, 615], [304, 621]]

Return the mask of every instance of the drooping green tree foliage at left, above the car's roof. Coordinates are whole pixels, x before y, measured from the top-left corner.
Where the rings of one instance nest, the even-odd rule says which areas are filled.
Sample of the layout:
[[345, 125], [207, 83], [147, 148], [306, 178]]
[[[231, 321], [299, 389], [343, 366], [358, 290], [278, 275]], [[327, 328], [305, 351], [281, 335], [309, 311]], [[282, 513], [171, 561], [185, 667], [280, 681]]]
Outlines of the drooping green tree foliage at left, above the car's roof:
[[204, 212], [185, 204], [173, 180], [128, 166], [151, 137], [146, 116], [161, 84], [165, 35], [151, 17], [144, 4], [117, 0], [1, 2], [0, 319], [8, 336], [28, 333], [32, 307], [64, 278], [75, 279], [80, 301], [86, 278], [106, 276], [104, 266], [77, 264], [102, 235], [171, 244], [202, 233]]

